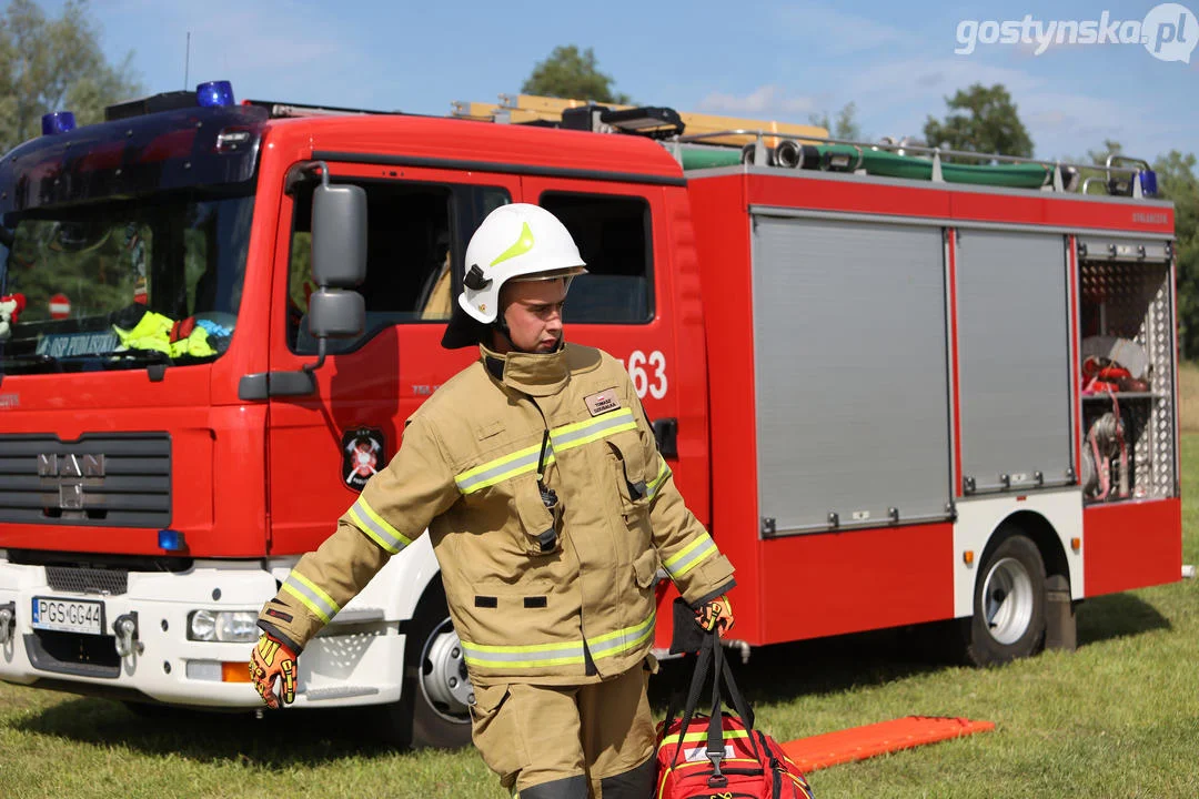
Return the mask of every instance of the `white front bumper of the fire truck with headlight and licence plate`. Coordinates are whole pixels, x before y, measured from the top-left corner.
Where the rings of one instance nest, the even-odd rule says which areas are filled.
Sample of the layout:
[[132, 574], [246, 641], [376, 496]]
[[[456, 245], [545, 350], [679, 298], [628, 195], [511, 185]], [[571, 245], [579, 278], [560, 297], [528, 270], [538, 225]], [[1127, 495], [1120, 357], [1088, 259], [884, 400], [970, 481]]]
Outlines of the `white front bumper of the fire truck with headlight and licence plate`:
[[[131, 571], [120, 594], [73, 593], [53, 587], [44, 567], [0, 558], [0, 609], [10, 607], [13, 616], [0, 644], [0, 680], [180, 706], [259, 708], [252, 685], [236, 682], [243, 679], [253, 642], [189, 641], [188, 615], [257, 613], [277, 589], [276, 575], [257, 562], [198, 562], [185, 573]], [[35, 597], [102, 601], [106, 629], [98, 636], [36, 630]], [[134, 613], [137, 637], [122, 656], [114, 624]], [[398, 624], [381, 611], [356, 611], [351, 603], [301, 654], [296, 707], [394, 702], [403, 662]]]

